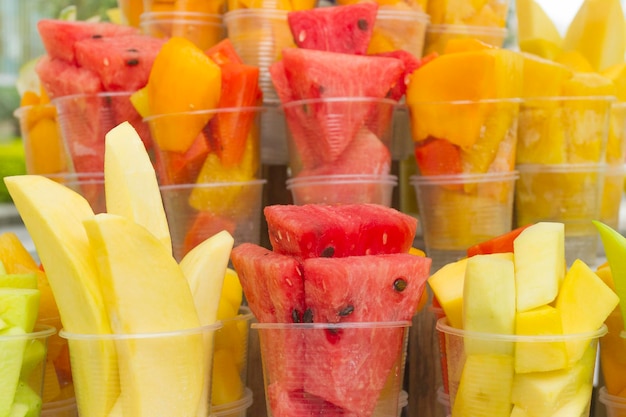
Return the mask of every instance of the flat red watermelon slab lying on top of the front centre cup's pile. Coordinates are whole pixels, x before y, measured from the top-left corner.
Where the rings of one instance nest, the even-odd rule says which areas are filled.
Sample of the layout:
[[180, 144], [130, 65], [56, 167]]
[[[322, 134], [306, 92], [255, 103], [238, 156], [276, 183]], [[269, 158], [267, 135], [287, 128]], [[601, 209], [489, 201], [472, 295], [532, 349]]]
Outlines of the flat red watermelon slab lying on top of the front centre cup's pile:
[[264, 208], [275, 252], [299, 259], [407, 253], [417, 219], [376, 204]]

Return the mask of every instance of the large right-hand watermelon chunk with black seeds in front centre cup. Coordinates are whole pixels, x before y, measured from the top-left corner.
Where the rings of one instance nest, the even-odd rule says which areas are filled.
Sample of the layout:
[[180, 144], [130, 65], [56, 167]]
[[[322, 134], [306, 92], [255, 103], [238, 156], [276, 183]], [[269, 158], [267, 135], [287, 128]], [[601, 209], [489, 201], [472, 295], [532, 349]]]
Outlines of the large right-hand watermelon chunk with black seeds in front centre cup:
[[[307, 309], [316, 323], [410, 321], [430, 263], [410, 254], [306, 259]], [[348, 328], [307, 336], [305, 391], [357, 415], [371, 415], [390, 370], [401, 362], [402, 329]]]

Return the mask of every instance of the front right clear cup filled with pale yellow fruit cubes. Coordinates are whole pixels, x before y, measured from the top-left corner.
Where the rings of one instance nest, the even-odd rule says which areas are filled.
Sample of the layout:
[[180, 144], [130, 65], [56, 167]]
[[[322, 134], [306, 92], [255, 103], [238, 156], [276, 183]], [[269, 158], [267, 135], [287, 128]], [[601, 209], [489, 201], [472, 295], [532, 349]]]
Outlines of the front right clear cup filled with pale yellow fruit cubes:
[[589, 414], [598, 341], [616, 293], [565, 227], [539, 222], [483, 242], [429, 278], [445, 317], [444, 387], [456, 415]]

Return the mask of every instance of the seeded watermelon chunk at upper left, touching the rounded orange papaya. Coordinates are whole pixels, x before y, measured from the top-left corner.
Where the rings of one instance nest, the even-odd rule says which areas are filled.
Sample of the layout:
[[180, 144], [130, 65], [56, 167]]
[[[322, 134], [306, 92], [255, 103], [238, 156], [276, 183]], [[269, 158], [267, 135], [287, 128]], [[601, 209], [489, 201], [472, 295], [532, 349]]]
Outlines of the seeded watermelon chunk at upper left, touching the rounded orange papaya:
[[106, 91], [135, 91], [148, 83], [164, 43], [145, 35], [88, 38], [76, 42], [76, 61], [98, 74]]

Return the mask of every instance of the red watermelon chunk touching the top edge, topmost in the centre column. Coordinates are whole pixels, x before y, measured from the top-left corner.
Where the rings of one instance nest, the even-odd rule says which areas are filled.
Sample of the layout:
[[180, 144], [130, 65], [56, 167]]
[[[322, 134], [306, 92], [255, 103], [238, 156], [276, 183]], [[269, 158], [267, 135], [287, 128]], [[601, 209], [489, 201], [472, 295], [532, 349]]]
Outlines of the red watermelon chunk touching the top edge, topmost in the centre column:
[[316, 7], [289, 12], [287, 22], [300, 48], [365, 55], [377, 12], [377, 3]]

